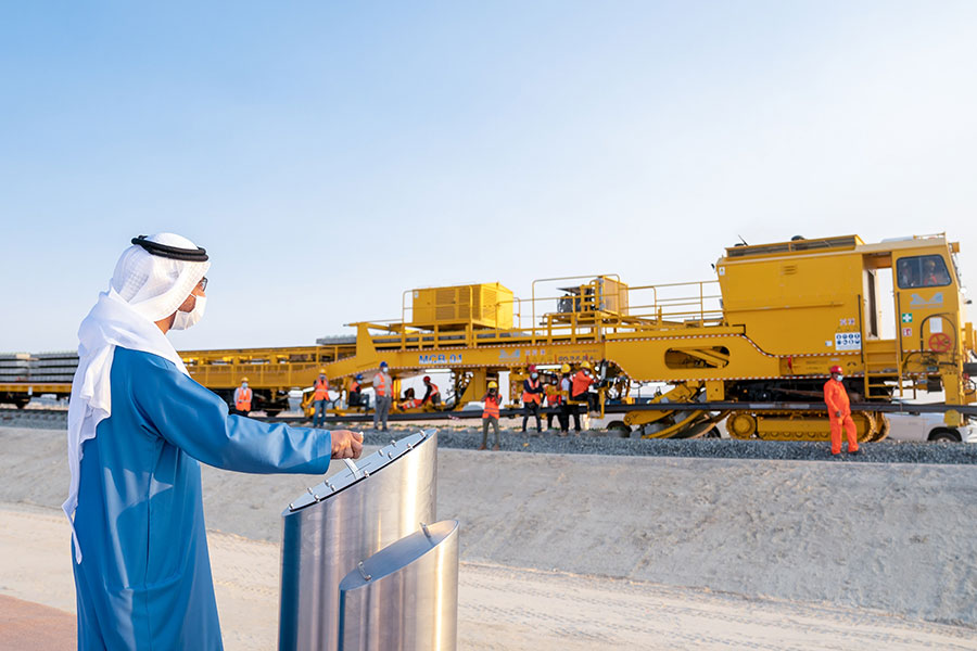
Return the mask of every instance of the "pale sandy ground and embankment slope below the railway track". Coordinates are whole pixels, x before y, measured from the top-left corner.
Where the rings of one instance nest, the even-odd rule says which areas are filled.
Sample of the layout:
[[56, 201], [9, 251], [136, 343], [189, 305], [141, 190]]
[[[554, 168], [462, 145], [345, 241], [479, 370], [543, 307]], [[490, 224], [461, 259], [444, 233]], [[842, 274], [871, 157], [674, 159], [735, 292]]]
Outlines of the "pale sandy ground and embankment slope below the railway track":
[[[63, 437], [0, 427], [0, 595], [69, 613]], [[319, 480], [204, 469], [229, 650], [275, 648], [279, 512]], [[972, 467], [439, 451], [461, 649], [977, 649], [975, 497]]]

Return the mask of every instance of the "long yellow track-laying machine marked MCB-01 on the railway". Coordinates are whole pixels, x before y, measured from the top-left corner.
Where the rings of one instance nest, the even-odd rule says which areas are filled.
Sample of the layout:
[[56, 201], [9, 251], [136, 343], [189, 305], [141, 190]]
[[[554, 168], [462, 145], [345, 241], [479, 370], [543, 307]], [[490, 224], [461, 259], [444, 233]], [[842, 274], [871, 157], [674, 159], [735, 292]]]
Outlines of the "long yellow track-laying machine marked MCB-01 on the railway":
[[[726, 248], [711, 281], [544, 279], [529, 298], [498, 283], [418, 289], [405, 292], [399, 320], [351, 323], [355, 335], [181, 356], [199, 382], [228, 398], [246, 375], [256, 408], [268, 413], [287, 408], [289, 391], [310, 386], [322, 368], [343, 392], [357, 374], [368, 385], [386, 361], [397, 395], [403, 379], [447, 372], [441, 407], [401, 411], [426, 419], [457, 416], [503, 372], [518, 398], [530, 365], [575, 370], [588, 361], [612, 430], [689, 437], [725, 419], [734, 437], [791, 441], [827, 438], [822, 386], [838, 365], [859, 437], [872, 441], [886, 435], [893, 401], [919, 390], [944, 393], [932, 409], [948, 426], [977, 416], [969, 407], [977, 342], [959, 248], [943, 234], [873, 244], [858, 235], [795, 238]], [[645, 383], [661, 388], [635, 397]], [[0, 398], [4, 391], [10, 385], [0, 385]]]

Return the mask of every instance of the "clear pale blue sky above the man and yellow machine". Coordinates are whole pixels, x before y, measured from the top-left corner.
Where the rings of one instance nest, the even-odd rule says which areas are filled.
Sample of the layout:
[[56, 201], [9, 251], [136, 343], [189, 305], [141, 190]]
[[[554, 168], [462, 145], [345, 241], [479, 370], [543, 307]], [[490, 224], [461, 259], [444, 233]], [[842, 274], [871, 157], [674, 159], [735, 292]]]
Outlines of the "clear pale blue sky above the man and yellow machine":
[[8, 2], [0, 78], [0, 350], [163, 230], [213, 255], [180, 348], [740, 234], [946, 230], [977, 286], [977, 2]]

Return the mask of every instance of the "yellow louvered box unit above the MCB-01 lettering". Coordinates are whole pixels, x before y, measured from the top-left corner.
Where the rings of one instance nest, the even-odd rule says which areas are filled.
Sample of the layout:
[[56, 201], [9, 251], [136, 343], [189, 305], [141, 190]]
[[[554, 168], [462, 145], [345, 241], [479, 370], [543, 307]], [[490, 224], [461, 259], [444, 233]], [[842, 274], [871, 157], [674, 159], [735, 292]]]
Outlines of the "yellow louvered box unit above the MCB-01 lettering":
[[512, 327], [512, 291], [497, 282], [428, 288], [411, 293], [410, 328], [464, 330]]

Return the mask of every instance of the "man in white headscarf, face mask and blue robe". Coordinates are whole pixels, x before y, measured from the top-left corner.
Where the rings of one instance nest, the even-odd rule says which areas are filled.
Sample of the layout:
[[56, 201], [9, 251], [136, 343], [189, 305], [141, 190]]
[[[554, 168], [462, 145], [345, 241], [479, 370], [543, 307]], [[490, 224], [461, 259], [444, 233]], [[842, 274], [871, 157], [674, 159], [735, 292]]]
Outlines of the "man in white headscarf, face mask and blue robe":
[[221, 649], [200, 463], [325, 473], [356, 458], [352, 432], [228, 416], [166, 339], [206, 304], [206, 251], [173, 233], [132, 239], [78, 330], [68, 409], [78, 648]]

